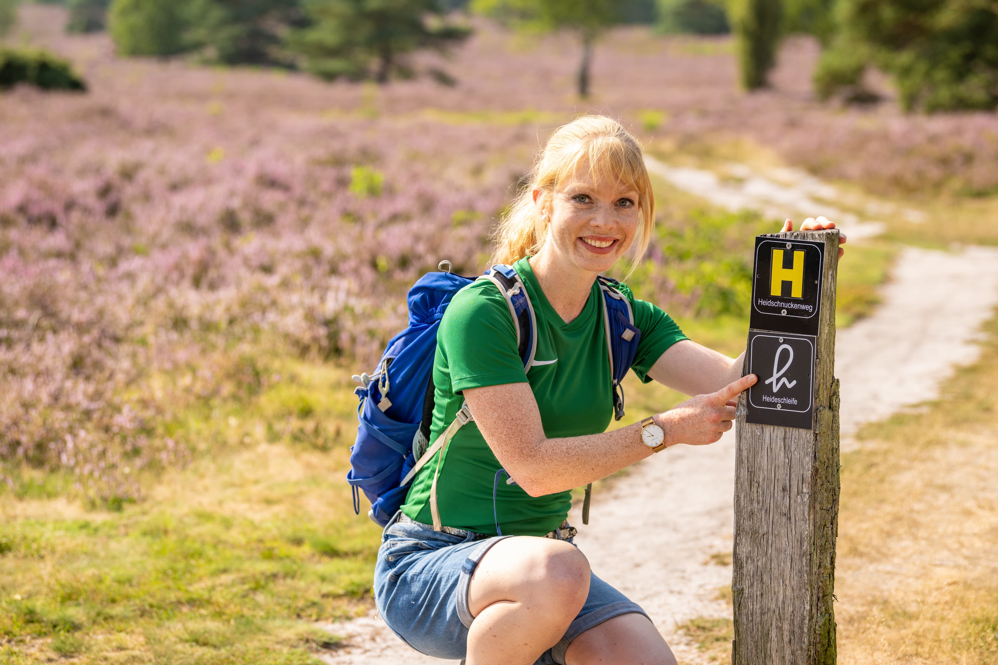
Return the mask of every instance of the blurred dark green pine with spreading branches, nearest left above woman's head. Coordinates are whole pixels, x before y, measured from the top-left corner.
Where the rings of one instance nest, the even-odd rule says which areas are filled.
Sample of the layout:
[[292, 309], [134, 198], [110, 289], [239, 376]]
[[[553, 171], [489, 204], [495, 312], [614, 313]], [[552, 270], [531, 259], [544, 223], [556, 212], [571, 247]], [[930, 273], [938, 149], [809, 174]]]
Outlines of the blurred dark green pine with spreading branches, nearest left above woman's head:
[[[437, 0], [304, 0], [304, 9], [310, 25], [292, 32], [287, 44], [306, 70], [329, 80], [408, 78], [414, 76], [409, 53], [447, 53], [471, 34], [446, 20]], [[436, 78], [450, 80], [442, 72]]]

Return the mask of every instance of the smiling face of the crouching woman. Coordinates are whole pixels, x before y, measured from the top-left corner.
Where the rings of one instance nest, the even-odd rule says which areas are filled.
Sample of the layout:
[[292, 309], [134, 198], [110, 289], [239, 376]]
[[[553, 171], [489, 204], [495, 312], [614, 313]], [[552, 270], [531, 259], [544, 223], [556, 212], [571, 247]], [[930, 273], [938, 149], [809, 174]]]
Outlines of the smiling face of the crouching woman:
[[550, 197], [540, 194], [534, 190], [549, 225], [545, 247], [589, 272], [613, 267], [638, 233], [638, 192], [620, 182], [594, 181], [589, 168], [580, 168]]

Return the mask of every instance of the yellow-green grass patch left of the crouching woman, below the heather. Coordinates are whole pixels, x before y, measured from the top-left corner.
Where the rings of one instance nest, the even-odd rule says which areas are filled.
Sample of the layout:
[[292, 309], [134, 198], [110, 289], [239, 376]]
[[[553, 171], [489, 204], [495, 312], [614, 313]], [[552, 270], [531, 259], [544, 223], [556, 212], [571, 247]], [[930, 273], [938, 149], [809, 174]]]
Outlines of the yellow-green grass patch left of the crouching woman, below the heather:
[[[140, 501], [90, 502], [31, 469], [0, 494], [0, 663], [316, 663], [336, 639], [315, 622], [370, 606], [379, 529], [343, 481], [348, 372], [237, 361], [153, 425], [192, 455], [146, 470]], [[155, 381], [169, 399], [197, 379]]]

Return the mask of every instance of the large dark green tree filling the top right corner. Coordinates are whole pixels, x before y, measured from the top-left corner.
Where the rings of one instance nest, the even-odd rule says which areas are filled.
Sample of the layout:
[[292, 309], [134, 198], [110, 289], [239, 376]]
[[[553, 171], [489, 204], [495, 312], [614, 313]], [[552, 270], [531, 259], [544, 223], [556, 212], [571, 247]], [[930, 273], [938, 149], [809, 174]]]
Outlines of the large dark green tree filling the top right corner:
[[822, 98], [860, 90], [867, 65], [890, 74], [905, 110], [998, 107], [993, 0], [840, 0], [840, 32], [814, 73]]

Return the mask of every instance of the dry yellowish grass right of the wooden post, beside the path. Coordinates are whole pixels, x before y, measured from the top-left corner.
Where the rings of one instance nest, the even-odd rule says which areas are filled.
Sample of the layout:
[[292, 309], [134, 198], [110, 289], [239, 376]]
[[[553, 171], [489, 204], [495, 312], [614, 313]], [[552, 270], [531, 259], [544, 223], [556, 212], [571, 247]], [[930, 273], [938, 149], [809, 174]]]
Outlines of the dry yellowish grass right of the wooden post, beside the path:
[[839, 662], [998, 662], [998, 319], [974, 366], [842, 456]]

